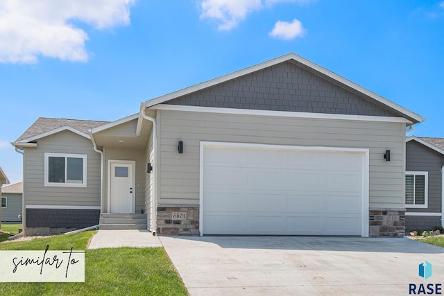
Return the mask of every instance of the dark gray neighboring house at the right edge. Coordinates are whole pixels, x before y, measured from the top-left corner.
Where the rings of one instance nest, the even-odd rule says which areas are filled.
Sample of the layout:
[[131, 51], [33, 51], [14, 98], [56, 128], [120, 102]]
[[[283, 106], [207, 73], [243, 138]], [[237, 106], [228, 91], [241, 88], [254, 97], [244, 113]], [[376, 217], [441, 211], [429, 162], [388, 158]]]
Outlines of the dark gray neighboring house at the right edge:
[[444, 227], [444, 139], [406, 140], [406, 230]]

